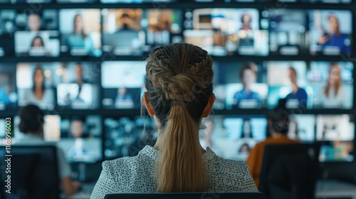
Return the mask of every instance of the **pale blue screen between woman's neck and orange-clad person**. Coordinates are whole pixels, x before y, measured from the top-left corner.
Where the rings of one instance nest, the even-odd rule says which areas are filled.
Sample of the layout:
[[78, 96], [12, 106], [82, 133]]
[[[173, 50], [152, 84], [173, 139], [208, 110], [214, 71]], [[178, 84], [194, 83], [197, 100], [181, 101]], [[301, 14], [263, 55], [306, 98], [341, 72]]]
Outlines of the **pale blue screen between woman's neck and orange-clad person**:
[[266, 139], [267, 119], [261, 116], [214, 116], [204, 119], [200, 142], [209, 146], [217, 156], [246, 161], [248, 152]]

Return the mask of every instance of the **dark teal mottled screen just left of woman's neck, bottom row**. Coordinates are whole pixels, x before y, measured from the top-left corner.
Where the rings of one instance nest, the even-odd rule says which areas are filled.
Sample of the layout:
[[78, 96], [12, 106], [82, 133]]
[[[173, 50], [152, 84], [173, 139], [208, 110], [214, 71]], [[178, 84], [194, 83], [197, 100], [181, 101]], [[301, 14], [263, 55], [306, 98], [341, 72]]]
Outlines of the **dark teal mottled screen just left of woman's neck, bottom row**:
[[155, 145], [157, 131], [155, 122], [149, 117], [145, 120], [142, 117], [107, 118], [104, 123], [106, 159], [136, 156], [146, 145]]

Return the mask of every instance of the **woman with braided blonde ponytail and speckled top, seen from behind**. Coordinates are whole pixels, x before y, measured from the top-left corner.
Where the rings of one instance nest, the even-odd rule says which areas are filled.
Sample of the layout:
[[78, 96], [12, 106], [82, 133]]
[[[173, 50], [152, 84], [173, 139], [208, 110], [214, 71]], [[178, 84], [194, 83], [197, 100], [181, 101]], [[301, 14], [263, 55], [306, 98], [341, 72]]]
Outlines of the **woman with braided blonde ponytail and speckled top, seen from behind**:
[[201, 119], [215, 101], [213, 60], [205, 50], [174, 43], [152, 50], [143, 102], [158, 138], [137, 156], [103, 162], [91, 198], [108, 193], [257, 191], [248, 165], [216, 156], [199, 143]]

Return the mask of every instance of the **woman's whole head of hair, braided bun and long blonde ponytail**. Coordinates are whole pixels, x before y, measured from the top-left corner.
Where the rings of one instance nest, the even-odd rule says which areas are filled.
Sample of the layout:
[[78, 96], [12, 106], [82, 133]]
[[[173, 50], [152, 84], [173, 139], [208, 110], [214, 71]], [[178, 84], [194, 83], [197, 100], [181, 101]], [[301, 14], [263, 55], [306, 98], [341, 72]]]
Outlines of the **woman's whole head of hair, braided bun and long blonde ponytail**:
[[212, 64], [206, 50], [187, 43], [160, 46], [147, 58], [147, 97], [162, 136], [158, 192], [206, 190], [199, 124], [213, 92]]

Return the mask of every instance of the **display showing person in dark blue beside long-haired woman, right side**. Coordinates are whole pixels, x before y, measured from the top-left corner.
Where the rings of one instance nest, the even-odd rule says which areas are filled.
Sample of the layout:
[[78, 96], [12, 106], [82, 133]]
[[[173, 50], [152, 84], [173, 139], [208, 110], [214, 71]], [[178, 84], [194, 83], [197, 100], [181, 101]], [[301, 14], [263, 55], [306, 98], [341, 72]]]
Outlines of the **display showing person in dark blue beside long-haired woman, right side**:
[[352, 109], [352, 63], [273, 61], [267, 68], [269, 108], [286, 98], [290, 109]]

